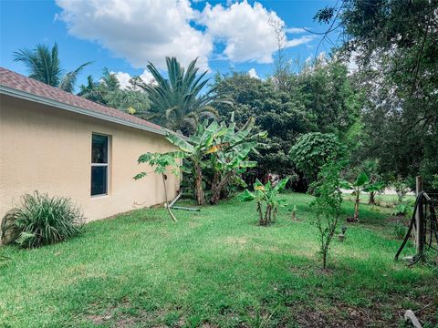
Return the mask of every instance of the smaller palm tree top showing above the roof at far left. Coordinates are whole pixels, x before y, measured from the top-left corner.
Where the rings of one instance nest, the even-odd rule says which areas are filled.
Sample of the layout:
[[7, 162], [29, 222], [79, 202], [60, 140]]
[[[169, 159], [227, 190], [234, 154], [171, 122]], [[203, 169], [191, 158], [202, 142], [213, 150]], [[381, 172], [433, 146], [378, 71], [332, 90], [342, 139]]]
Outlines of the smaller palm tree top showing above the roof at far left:
[[35, 49], [18, 49], [14, 52], [14, 60], [25, 64], [29, 70], [29, 77], [46, 83], [52, 87], [59, 87], [67, 92], [73, 92], [79, 73], [84, 67], [91, 64], [87, 62], [62, 76], [57, 43], [51, 49], [46, 45], [36, 45]]

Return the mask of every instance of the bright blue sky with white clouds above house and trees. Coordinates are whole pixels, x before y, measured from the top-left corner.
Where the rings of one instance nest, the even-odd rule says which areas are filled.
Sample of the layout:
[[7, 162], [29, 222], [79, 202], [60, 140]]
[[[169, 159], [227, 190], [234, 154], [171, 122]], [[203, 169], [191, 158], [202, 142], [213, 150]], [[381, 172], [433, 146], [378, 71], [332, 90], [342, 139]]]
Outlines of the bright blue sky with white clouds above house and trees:
[[[316, 54], [319, 38], [299, 29], [324, 30], [312, 17], [332, 4], [326, 0], [0, 0], [0, 66], [26, 74], [12, 53], [56, 41], [66, 70], [94, 61], [79, 83], [88, 75], [98, 78], [102, 67], [119, 73], [120, 81], [141, 75], [150, 60], [162, 67], [166, 55], [183, 63], [199, 56], [200, 65], [212, 72], [252, 70], [266, 77], [276, 55], [268, 19], [283, 26], [287, 56], [305, 60]], [[319, 51], [328, 51], [328, 46]]]

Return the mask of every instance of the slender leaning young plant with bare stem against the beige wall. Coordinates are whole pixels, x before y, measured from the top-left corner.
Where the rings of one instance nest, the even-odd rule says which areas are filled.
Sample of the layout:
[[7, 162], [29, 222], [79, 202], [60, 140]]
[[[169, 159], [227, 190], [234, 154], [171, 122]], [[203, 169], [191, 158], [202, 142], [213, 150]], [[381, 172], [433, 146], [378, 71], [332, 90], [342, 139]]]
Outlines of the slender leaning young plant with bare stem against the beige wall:
[[[166, 209], [171, 216], [172, 220], [177, 221], [175, 216], [172, 213], [172, 210], [169, 206], [169, 200], [167, 198], [167, 188], [166, 188], [166, 172], [169, 168], [171, 168], [172, 174], [175, 176], [180, 175], [180, 167], [181, 167], [181, 159], [185, 157], [185, 154], [182, 151], [172, 151], [167, 153], [150, 153], [147, 152], [139, 157], [137, 160], [139, 164], [146, 163], [149, 164], [152, 168], [154, 168], [154, 172], [162, 175], [162, 184], [164, 186], [164, 199], [166, 200], [165, 206]], [[137, 174], [134, 179], [141, 179], [147, 175], [147, 172], [141, 172]]]

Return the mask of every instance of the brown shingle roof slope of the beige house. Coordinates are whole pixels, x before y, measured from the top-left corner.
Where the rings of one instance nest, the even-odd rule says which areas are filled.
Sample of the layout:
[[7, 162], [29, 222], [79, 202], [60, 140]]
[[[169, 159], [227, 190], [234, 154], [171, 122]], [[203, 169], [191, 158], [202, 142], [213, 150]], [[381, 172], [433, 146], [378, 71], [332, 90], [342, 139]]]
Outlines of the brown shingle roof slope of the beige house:
[[12, 88], [37, 97], [53, 100], [57, 103], [68, 105], [74, 108], [81, 108], [91, 113], [98, 113], [108, 118], [115, 118], [117, 121], [132, 123], [133, 125], [144, 127], [152, 132], [165, 134], [166, 130], [147, 120], [134, 117], [116, 108], [109, 108], [98, 103], [92, 102], [83, 97], [70, 94], [58, 87], [50, 87], [45, 83], [36, 81], [33, 78], [22, 76], [4, 67], [0, 67], [0, 86]]

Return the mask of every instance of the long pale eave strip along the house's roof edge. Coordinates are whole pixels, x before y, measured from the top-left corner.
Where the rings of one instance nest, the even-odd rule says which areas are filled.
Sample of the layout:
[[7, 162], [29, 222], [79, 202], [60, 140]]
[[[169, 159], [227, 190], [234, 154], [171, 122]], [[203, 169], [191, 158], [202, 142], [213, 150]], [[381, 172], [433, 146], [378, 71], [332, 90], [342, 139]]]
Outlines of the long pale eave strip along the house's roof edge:
[[168, 133], [168, 131], [164, 128], [158, 129], [158, 128], [146, 127], [144, 125], [137, 124], [137, 123], [130, 122], [130, 121], [126, 121], [126, 120], [121, 119], [121, 118], [114, 118], [114, 117], [110, 117], [109, 115], [105, 115], [105, 114], [101, 114], [101, 113], [98, 113], [95, 111], [91, 111], [89, 109], [71, 106], [71, 105], [59, 102], [57, 100], [48, 99], [47, 97], [37, 96], [37, 95], [31, 94], [31, 93], [28, 93], [26, 91], [17, 90], [17, 89], [12, 88], [12, 87], [5, 87], [5, 86], [0, 85], [0, 94], [6, 95], [6, 96], [11, 96], [11, 97], [19, 97], [19, 98], [29, 100], [29, 101], [34, 101], [34, 102], [37, 102], [37, 103], [40, 103], [43, 105], [56, 107], [56, 108], [68, 110], [68, 111], [73, 112], [73, 113], [89, 116], [91, 118], [103, 119], [103, 120], [106, 120], [106, 121], [109, 121], [112, 123], [117, 123], [117, 124], [120, 124], [123, 126], [130, 127], [130, 128], [139, 128], [141, 130], [148, 131], [148, 132], [155, 133], [155, 134], [159, 134], [162, 136], [166, 136]]

